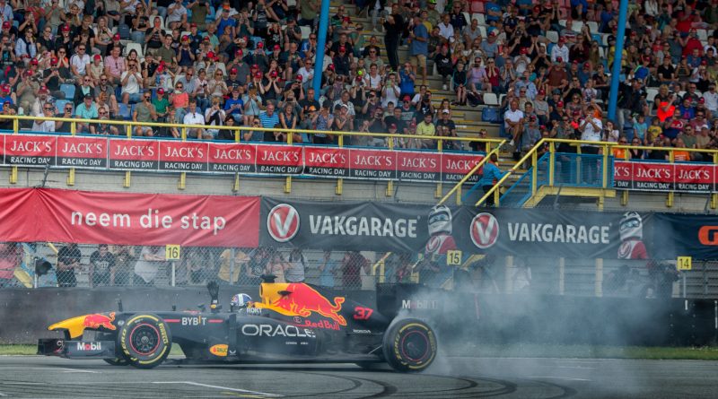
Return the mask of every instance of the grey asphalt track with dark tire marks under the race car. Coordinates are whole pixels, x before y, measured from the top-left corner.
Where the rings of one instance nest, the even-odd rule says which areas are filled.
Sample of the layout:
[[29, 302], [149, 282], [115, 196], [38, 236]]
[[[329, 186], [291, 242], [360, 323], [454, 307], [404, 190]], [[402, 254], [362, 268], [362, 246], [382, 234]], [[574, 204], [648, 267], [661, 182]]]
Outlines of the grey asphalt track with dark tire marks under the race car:
[[32, 398], [714, 398], [718, 362], [437, 360], [422, 374], [331, 365], [178, 365], [0, 357], [0, 397]]

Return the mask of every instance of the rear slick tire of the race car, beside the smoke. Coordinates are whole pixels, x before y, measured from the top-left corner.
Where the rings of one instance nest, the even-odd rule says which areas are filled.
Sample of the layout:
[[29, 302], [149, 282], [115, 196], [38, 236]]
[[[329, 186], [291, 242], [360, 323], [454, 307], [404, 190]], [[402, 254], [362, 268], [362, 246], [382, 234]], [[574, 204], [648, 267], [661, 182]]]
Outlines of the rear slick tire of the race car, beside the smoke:
[[382, 346], [384, 359], [397, 371], [424, 371], [436, 358], [436, 334], [429, 325], [416, 318], [391, 323], [384, 333]]

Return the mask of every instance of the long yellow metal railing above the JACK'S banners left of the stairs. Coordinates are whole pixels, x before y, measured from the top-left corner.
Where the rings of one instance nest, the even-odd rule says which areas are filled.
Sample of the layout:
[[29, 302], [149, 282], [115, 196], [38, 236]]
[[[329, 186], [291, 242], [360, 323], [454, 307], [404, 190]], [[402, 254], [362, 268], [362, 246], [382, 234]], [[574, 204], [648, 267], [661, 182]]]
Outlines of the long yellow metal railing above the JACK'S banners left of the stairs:
[[[159, 122], [134, 122], [134, 121], [126, 121], [126, 120], [112, 120], [112, 119], [79, 119], [79, 118], [70, 118], [70, 117], [28, 117], [28, 116], [19, 116], [19, 115], [0, 115], [0, 120], [13, 120], [13, 134], [19, 134], [20, 133], [20, 121], [55, 121], [55, 122], [67, 122], [70, 124], [70, 132], [71, 134], [76, 134], [77, 131], [77, 124], [83, 123], [83, 124], [103, 124], [103, 125], [115, 125], [115, 126], [125, 126], [124, 131], [121, 129], [120, 132], [124, 132], [123, 135], [126, 135], [127, 138], [133, 137], [133, 128], [135, 126], [144, 126], [144, 127], [169, 127], [169, 128], [178, 128], [180, 129], [180, 139], [182, 141], [186, 141], [188, 139], [188, 129], [218, 129], [218, 130], [230, 130], [235, 132], [234, 138], [235, 142], [237, 143], [249, 143], [248, 141], [242, 140], [241, 135], [242, 132], [279, 132], [279, 133], [287, 133], [286, 134], [286, 143], [289, 145], [293, 144], [293, 134], [329, 134], [329, 135], [337, 135], [337, 143], [338, 146], [344, 146], [345, 143], [345, 137], [381, 137], [387, 140], [388, 142], [388, 148], [390, 150], [394, 150], [393, 141], [394, 138], [403, 138], [403, 139], [418, 139], [418, 140], [435, 140], [437, 142], [437, 149], [438, 151], [442, 151], [443, 143], [445, 141], [450, 142], [461, 142], [461, 143], [484, 143], [486, 144], [486, 151], [491, 151], [491, 149], [496, 145], [503, 143], [503, 140], [501, 139], [492, 139], [492, 138], [474, 138], [474, 137], [441, 137], [441, 136], [433, 136], [433, 137], [427, 137], [425, 135], [417, 135], [417, 134], [390, 134], [390, 133], [362, 133], [362, 132], [338, 132], [338, 131], [317, 131], [317, 130], [306, 130], [306, 129], [284, 129], [284, 128], [264, 128], [264, 127], [254, 127], [254, 126], [206, 126], [206, 125], [184, 125], [184, 124], [169, 124], [169, 123], [159, 123]], [[32, 132], [29, 132], [32, 133]], [[12, 184], [17, 183], [17, 171], [18, 167], [13, 166], [11, 169], [11, 175], [10, 175], [10, 182]], [[186, 184], [186, 172], [180, 173], [180, 181], [178, 183], [178, 188], [184, 189]], [[125, 179], [124, 179], [124, 186], [128, 187], [130, 186], [131, 181], [131, 172], [127, 170], [125, 172]], [[74, 185], [74, 169], [70, 169], [68, 178], [67, 178], [67, 184], [69, 186]], [[441, 183], [437, 183], [436, 192], [441, 192]], [[239, 182], [239, 175], [235, 175], [234, 178], [234, 184], [232, 189], [234, 191], [238, 191], [240, 186]], [[337, 195], [342, 194], [342, 186], [343, 186], [343, 179], [338, 178], [337, 179], [337, 187], [335, 189], [335, 192]], [[387, 190], [386, 195], [391, 196], [393, 193], [393, 182], [390, 180], [387, 182]], [[292, 191], [292, 177], [287, 176], [285, 178], [285, 193], [290, 193]], [[437, 195], [438, 196], [438, 195]]]

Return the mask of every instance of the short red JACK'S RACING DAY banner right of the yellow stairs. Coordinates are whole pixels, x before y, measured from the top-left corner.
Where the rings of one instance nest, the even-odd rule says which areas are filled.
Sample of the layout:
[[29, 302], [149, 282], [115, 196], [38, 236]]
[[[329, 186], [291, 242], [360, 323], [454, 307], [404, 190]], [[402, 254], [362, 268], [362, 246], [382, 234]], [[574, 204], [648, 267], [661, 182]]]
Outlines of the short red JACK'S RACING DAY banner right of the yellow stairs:
[[697, 162], [614, 161], [614, 187], [638, 191], [718, 192], [718, 166]]

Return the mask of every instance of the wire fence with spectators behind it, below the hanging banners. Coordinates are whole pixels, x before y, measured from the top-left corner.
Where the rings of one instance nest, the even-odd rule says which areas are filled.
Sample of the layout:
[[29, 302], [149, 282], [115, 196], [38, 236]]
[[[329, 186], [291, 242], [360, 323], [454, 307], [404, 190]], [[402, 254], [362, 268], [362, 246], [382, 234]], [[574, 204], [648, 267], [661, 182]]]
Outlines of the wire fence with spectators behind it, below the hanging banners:
[[[0, 244], [0, 287], [200, 286], [216, 281], [258, 285], [309, 282], [337, 289], [374, 290], [377, 282], [423, 283], [457, 291], [541, 293], [634, 298], [712, 298], [718, 263], [696, 263], [678, 272], [675, 262], [570, 259], [463, 254], [445, 256], [290, 248], [166, 247]], [[37, 272], [37, 273], [36, 273]]]

